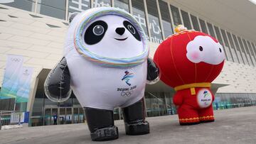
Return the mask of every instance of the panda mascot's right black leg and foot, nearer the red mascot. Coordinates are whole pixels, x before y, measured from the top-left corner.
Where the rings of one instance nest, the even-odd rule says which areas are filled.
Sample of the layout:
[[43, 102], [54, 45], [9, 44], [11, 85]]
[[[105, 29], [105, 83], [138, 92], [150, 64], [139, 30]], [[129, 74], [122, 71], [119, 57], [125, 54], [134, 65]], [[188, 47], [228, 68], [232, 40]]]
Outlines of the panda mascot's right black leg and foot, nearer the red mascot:
[[145, 121], [143, 99], [123, 108], [122, 112], [127, 135], [144, 135], [149, 133], [149, 123]]

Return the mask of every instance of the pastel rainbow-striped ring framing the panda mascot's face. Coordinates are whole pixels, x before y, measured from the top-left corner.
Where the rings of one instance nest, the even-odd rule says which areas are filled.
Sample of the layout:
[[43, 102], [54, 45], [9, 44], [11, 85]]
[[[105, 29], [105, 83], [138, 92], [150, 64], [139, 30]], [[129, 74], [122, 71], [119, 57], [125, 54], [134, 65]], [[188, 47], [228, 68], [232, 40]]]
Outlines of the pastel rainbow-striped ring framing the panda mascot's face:
[[[107, 65], [110, 67], [129, 67], [134, 65], [139, 65], [142, 62], [145, 62], [147, 57], [149, 56], [149, 47], [146, 39], [146, 35], [144, 33], [144, 30], [142, 26], [139, 25], [137, 20], [126, 11], [122, 9], [117, 8], [110, 8], [110, 7], [101, 7], [90, 9], [87, 13], [83, 13], [82, 16], [85, 18], [82, 18], [80, 21], [80, 25], [75, 28], [75, 35], [74, 35], [74, 44], [75, 49], [80, 53], [80, 55], [86, 57], [88, 60], [91, 60], [92, 62], [97, 62], [102, 65]], [[100, 16], [106, 16], [106, 15], [115, 15], [115, 16], [122, 16], [123, 18], [127, 18], [135, 28], [137, 28], [137, 31], [139, 32], [139, 35], [142, 38], [143, 43], [143, 51], [139, 55], [135, 57], [128, 57], [128, 58], [112, 58], [112, 57], [102, 57], [100, 55], [95, 54], [94, 52], [90, 52], [87, 48], [85, 48], [85, 42], [83, 40], [83, 33], [85, 28], [89, 25], [90, 21], [93, 21], [96, 18], [99, 18]]]

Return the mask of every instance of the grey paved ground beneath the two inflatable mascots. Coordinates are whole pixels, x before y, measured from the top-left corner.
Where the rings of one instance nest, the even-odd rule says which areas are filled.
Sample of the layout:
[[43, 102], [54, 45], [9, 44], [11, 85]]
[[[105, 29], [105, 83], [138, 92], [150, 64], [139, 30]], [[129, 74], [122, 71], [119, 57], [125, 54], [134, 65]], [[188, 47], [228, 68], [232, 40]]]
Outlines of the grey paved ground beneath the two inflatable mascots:
[[215, 111], [214, 123], [179, 126], [178, 116], [147, 118], [151, 133], [125, 135], [123, 121], [119, 139], [92, 142], [86, 124], [40, 126], [0, 131], [0, 143], [8, 144], [65, 144], [65, 143], [256, 143], [256, 107]]

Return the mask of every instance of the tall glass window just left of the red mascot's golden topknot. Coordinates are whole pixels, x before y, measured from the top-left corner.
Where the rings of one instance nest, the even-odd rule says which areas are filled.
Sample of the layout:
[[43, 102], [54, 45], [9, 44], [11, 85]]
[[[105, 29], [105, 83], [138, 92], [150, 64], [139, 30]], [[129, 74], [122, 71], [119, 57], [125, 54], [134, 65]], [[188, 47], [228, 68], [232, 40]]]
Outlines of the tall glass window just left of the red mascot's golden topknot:
[[159, 8], [161, 11], [161, 19], [164, 28], [164, 37], [167, 38], [169, 35], [173, 34], [171, 26], [171, 16], [166, 2], [159, 0]]

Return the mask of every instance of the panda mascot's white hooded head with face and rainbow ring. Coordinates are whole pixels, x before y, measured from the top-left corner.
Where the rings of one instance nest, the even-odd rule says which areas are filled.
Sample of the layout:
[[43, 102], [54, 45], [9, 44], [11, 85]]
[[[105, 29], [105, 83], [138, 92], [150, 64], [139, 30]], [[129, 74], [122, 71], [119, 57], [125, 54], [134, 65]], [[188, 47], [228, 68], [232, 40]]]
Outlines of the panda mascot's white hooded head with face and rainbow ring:
[[71, 15], [70, 21], [65, 56], [75, 49], [92, 62], [125, 67], [139, 65], [149, 55], [143, 28], [122, 9], [90, 9]]

